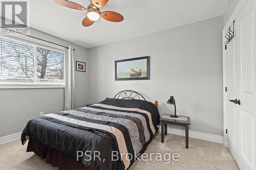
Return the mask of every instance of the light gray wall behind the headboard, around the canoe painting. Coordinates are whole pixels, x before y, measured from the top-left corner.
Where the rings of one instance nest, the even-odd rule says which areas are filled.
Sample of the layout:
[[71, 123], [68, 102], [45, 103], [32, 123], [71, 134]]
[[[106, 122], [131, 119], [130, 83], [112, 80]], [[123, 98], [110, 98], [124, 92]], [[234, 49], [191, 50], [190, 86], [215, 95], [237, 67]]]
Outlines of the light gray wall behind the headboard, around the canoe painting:
[[[160, 114], [174, 95], [177, 111], [191, 117], [191, 129], [223, 135], [223, 16], [89, 49], [90, 100], [124, 89], [159, 101]], [[151, 56], [151, 80], [115, 81], [115, 60]]]

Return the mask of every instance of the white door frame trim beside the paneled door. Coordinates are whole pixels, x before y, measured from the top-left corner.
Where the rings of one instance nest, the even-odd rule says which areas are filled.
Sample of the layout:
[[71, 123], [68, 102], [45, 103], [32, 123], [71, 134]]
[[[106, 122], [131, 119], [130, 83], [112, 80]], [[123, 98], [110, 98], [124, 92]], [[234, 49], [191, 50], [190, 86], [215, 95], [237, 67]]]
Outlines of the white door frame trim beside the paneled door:
[[[227, 147], [227, 134], [226, 134], [226, 129], [228, 128], [227, 127], [227, 93], [226, 93], [226, 90], [225, 90], [225, 87], [228, 88], [227, 86], [227, 75], [226, 75], [226, 50], [225, 50], [225, 44], [224, 42], [226, 41], [226, 38], [225, 38], [225, 34], [228, 30], [228, 28], [232, 25], [233, 23], [233, 20], [236, 19], [236, 17], [239, 15], [239, 13], [241, 12], [241, 10], [243, 9], [244, 5], [246, 4], [248, 0], [240, 0], [238, 2], [238, 5], [237, 7], [234, 9], [234, 11], [232, 12], [231, 16], [229, 17], [223, 31], [222, 31], [222, 37], [223, 37], [223, 133], [224, 133], [224, 146]], [[234, 35], [236, 36], [236, 35]]]

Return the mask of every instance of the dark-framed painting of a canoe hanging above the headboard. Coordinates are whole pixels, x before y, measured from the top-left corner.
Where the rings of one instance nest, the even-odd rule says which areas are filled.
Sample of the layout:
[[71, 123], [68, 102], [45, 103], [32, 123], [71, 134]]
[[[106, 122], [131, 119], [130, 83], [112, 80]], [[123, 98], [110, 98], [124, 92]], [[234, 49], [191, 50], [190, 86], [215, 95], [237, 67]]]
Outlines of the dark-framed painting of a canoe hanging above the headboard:
[[150, 57], [115, 61], [115, 80], [149, 80]]

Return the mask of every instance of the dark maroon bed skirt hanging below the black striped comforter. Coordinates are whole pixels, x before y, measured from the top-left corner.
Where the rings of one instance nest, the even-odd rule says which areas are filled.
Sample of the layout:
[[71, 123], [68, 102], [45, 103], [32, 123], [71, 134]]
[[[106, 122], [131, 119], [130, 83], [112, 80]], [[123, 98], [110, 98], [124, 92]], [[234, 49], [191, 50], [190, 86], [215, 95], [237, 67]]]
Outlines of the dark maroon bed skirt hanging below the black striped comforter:
[[[152, 141], [146, 142], [140, 154], [144, 153], [148, 144]], [[40, 156], [41, 159], [46, 158], [46, 163], [51, 163], [54, 167], [59, 167], [59, 170], [91, 170], [84, 166], [80, 161], [76, 161], [74, 158], [67, 156], [66, 154], [60, 153], [56, 150], [50, 149], [39, 141], [29, 138], [27, 152], [34, 152], [36, 155]], [[135, 161], [132, 160], [129, 168], [133, 165]], [[116, 169], [116, 168], [114, 168]]]

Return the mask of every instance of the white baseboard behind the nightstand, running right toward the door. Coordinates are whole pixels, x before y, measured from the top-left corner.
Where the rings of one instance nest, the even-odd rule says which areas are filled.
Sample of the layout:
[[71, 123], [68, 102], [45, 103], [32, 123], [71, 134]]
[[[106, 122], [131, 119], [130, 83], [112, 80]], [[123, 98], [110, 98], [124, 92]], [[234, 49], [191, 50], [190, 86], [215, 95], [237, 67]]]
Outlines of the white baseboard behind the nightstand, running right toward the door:
[[[183, 129], [168, 127], [167, 132], [170, 134], [185, 136], [185, 130], [183, 130]], [[208, 133], [195, 132], [195, 131], [189, 130], [188, 136], [191, 138], [202, 139], [202, 140], [207, 140], [207, 141], [212, 141], [212, 142], [217, 142], [217, 143], [223, 143], [223, 136], [219, 136], [219, 135], [212, 135], [212, 134], [208, 134]]]

